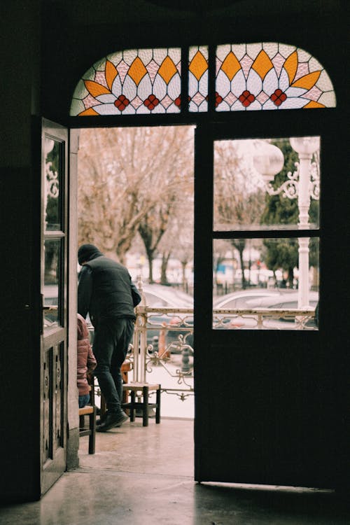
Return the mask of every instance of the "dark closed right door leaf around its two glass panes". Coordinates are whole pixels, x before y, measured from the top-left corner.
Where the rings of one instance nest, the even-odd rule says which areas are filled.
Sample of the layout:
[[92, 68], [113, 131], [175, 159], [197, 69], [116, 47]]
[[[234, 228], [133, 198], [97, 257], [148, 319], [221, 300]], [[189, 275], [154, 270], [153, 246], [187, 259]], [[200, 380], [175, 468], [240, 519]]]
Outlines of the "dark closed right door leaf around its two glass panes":
[[[348, 209], [346, 195], [337, 190], [343, 183], [337, 120], [327, 111], [242, 113], [230, 126], [208, 124], [196, 130], [195, 479], [334, 486], [344, 453], [342, 421], [337, 418], [346, 392], [341, 337], [348, 338], [342, 281], [330, 279], [347, 274], [346, 261], [330, 257], [338, 250], [346, 253], [346, 237], [336, 229]], [[319, 329], [214, 330], [215, 241], [281, 234], [215, 230], [216, 142], [301, 134], [321, 137], [321, 227], [312, 233], [321, 246]], [[283, 235], [297, 237], [290, 231]]]

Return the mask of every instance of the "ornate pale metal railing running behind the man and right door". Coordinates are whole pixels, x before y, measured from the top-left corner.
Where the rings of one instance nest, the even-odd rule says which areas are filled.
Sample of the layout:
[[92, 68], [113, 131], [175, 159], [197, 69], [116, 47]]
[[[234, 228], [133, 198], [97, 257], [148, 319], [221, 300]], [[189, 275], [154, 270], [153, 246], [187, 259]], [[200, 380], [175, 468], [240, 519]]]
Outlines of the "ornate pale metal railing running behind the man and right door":
[[[167, 372], [177, 387], [163, 387], [185, 400], [193, 395], [193, 309], [136, 308], [134, 338], [127, 354], [132, 381], [155, 382], [156, 367]], [[214, 309], [216, 330], [317, 330], [314, 308], [307, 309]], [[171, 381], [170, 381], [171, 382]]]

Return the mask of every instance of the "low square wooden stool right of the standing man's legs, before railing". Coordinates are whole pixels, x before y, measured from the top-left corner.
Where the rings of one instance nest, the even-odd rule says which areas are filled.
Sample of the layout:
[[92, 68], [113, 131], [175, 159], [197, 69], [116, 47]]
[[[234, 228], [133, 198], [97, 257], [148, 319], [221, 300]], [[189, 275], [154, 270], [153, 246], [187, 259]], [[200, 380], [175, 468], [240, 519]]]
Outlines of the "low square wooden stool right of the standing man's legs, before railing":
[[[148, 395], [152, 391], [155, 391], [155, 403], [148, 401]], [[127, 397], [130, 395], [130, 402], [122, 403], [122, 408], [129, 411], [130, 421], [135, 421], [135, 416], [137, 416], [135, 411], [141, 409], [142, 426], [148, 426], [148, 410], [155, 408], [155, 423], [160, 423], [160, 384], [125, 383], [123, 384], [123, 392]], [[140, 398], [141, 401], [137, 401], [136, 398]]]

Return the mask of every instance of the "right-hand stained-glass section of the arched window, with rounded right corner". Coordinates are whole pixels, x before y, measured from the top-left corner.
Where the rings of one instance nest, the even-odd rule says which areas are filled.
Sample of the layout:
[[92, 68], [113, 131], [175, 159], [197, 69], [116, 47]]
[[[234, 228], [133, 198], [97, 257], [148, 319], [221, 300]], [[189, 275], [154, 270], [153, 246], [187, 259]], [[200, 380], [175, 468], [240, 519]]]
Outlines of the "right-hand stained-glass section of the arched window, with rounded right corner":
[[328, 73], [300, 48], [271, 42], [216, 48], [216, 111], [335, 105]]

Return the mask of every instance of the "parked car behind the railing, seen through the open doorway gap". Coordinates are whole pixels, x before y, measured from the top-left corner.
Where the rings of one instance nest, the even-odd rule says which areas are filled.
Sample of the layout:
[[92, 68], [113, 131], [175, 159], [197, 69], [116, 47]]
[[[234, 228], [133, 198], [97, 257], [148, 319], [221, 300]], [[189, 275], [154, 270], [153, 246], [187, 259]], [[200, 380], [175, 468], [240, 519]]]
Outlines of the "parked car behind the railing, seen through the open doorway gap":
[[[178, 288], [161, 284], [145, 284], [142, 291], [148, 307], [193, 309], [193, 297]], [[165, 335], [165, 346], [172, 344], [171, 353], [181, 353], [179, 335], [183, 335], [183, 341], [193, 346], [193, 314], [181, 316], [175, 312], [148, 314], [147, 326], [147, 344], [156, 347], [160, 344], [162, 335]], [[158, 342], [155, 337], [158, 337]]]

